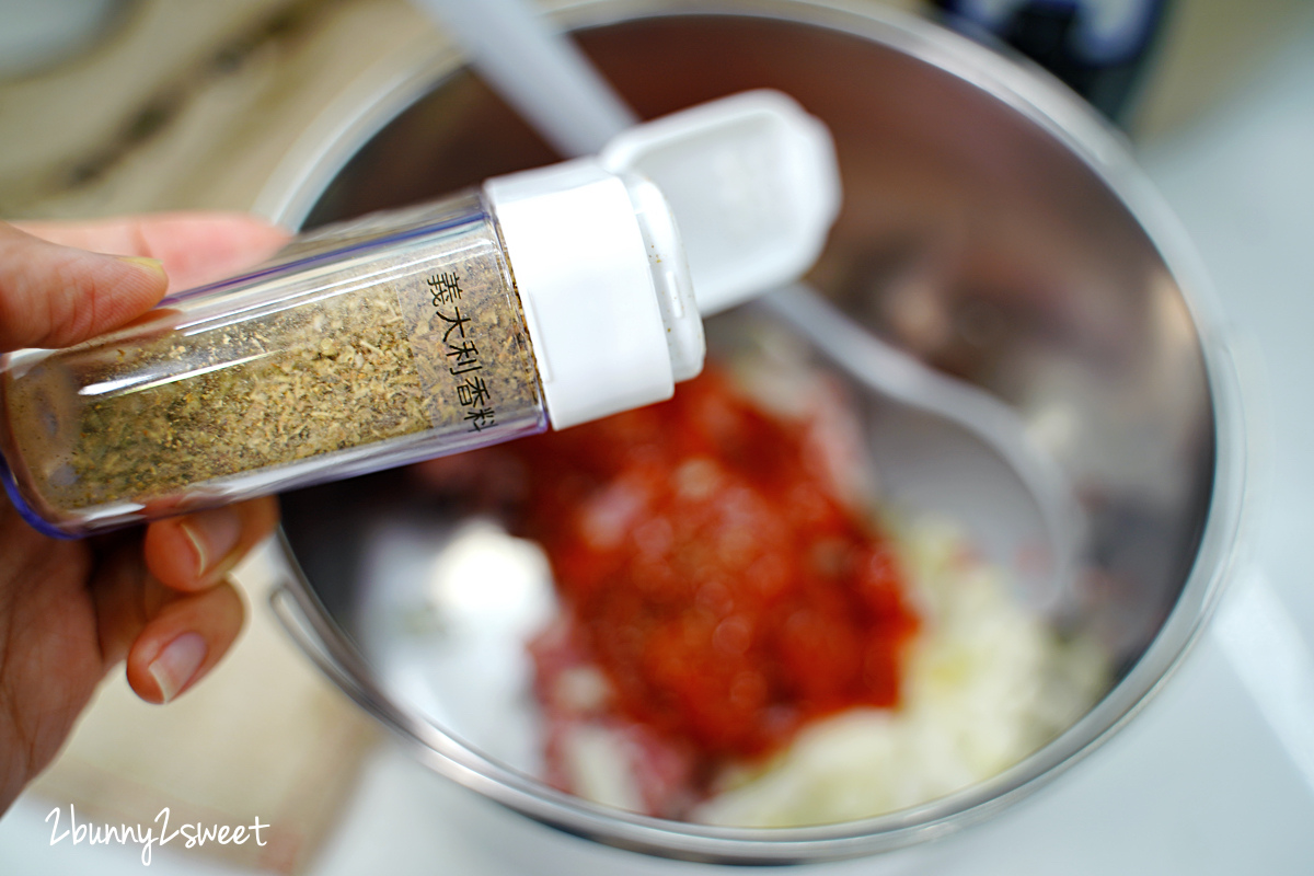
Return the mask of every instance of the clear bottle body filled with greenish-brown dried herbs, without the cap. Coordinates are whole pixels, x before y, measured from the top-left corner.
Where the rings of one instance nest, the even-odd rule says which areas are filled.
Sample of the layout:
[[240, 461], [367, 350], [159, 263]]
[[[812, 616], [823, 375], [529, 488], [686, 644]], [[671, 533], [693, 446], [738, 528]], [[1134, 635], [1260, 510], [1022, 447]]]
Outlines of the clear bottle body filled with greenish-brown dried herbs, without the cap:
[[311, 267], [307, 289], [289, 292], [289, 271], [397, 227], [311, 235], [272, 276], [11, 368], [12, 441], [46, 502], [150, 508], [407, 436], [540, 426], [523, 314], [478, 198], [406, 219], [436, 230]]

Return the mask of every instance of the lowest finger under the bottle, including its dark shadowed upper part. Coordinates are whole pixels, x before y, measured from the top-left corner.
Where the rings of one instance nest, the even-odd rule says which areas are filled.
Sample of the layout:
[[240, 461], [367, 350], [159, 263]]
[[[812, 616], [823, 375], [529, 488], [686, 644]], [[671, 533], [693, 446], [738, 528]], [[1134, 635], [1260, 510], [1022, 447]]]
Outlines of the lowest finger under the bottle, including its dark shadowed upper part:
[[127, 682], [148, 703], [196, 684], [242, 630], [242, 599], [229, 583], [180, 594], [146, 571], [133, 541], [105, 557], [92, 582], [104, 665], [127, 662]]

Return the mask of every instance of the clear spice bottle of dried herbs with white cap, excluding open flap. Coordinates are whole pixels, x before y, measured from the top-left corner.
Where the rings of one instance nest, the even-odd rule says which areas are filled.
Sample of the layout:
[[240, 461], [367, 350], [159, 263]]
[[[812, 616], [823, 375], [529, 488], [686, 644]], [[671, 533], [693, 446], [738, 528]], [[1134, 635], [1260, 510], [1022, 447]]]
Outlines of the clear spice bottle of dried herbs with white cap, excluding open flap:
[[293, 240], [0, 370], [0, 478], [85, 536], [668, 398], [702, 322], [658, 189], [579, 159]]

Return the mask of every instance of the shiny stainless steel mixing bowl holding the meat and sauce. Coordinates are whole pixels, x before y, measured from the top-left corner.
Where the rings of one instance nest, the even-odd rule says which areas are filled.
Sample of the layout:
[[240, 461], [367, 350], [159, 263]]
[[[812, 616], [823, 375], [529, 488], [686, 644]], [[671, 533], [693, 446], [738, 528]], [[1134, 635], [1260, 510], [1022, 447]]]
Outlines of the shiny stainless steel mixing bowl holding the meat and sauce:
[[[811, 280], [870, 330], [1013, 405], [1059, 462], [1089, 521], [1064, 620], [1101, 637], [1114, 682], [1049, 745], [949, 797], [838, 825], [723, 829], [558, 793], [533, 777], [523, 733], [507, 742], [489, 729], [495, 713], [418, 703], [386, 679], [369, 630], [380, 575], [422, 566], [456, 523], [403, 473], [286, 496], [285, 542], [300, 567], [275, 600], [285, 623], [435, 771], [531, 818], [650, 854], [871, 854], [978, 822], [1054, 779], [1163, 683], [1238, 544], [1240, 399], [1172, 217], [1120, 138], [1062, 87], [878, 4], [595, 0], [557, 14], [645, 117], [771, 87], [830, 126], [845, 205]], [[377, 97], [339, 120], [284, 192], [285, 221], [351, 217], [556, 160], [455, 54]], [[918, 495], [917, 470], [896, 470], [887, 487], [934, 504]], [[431, 535], [402, 544], [398, 532]], [[382, 573], [368, 559], [380, 552]]]

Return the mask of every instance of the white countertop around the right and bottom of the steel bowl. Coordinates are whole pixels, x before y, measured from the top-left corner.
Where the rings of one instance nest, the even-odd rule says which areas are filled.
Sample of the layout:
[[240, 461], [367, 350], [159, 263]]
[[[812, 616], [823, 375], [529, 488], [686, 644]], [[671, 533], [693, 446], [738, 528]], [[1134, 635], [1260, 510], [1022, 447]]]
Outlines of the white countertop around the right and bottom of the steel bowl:
[[[1143, 163], [1194, 239], [1264, 389], [1269, 477], [1254, 571], [1167, 688], [1105, 747], [982, 827], [819, 873], [1314, 873], [1314, 21], [1252, 83]], [[1267, 395], [1267, 402], [1259, 397]], [[50, 846], [49, 805], [0, 820], [0, 872], [138, 873], [141, 850]], [[502, 812], [393, 745], [310, 868], [356, 873], [696, 873]], [[233, 873], [185, 851], [148, 872]], [[723, 872], [723, 871], [717, 871]], [[740, 871], [742, 872], [742, 871]], [[778, 871], [777, 871], [778, 872]], [[800, 871], [794, 871], [800, 872]]]

